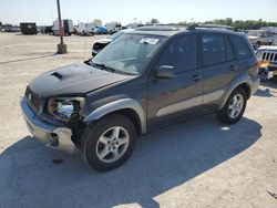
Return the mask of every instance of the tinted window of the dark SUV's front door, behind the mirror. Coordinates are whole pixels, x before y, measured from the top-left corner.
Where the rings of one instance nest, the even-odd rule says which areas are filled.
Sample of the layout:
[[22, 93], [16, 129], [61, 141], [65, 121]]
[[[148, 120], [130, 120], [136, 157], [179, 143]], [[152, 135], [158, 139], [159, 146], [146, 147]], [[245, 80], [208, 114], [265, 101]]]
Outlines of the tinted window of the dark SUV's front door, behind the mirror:
[[158, 60], [158, 65], [172, 65], [176, 72], [197, 67], [197, 39], [186, 35], [173, 41]]

